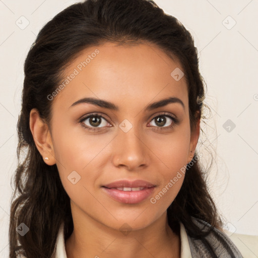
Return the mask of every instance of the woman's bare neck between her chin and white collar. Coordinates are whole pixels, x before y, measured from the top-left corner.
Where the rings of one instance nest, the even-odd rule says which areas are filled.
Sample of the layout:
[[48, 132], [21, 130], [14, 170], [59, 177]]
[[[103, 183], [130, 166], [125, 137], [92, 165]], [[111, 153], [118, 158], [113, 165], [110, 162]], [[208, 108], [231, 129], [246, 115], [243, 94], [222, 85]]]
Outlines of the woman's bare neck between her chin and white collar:
[[146, 228], [119, 231], [85, 215], [73, 218], [74, 231], [66, 240], [67, 258], [180, 257], [180, 236], [164, 213]]

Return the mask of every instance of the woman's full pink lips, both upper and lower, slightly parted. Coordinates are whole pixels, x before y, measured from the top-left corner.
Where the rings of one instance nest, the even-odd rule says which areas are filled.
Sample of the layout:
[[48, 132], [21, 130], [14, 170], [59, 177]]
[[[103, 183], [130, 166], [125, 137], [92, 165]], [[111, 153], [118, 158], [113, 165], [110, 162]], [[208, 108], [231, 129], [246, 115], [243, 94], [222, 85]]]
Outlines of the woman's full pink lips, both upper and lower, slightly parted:
[[[141, 189], [130, 190], [130, 188], [139, 187], [141, 187]], [[144, 180], [119, 180], [103, 185], [102, 188], [105, 193], [107, 193], [107, 195], [115, 201], [125, 204], [137, 204], [144, 201], [151, 195], [155, 188], [155, 185]], [[124, 190], [121, 188], [123, 188]]]

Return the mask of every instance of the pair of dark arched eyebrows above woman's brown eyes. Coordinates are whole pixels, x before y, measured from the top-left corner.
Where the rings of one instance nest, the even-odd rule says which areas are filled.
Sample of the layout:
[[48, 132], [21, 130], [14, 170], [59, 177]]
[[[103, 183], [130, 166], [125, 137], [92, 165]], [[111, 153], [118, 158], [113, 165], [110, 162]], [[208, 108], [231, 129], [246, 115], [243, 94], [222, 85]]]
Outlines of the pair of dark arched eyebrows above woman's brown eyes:
[[[119, 111], [119, 107], [116, 106], [115, 104], [113, 104], [109, 101], [97, 99], [97, 98], [82, 98], [82, 99], [77, 100], [70, 107], [73, 107], [73, 106], [81, 104], [81, 103], [89, 103], [89, 104], [93, 104], [95, 106], [107, 108], [107, 109], [114, 110], [114, 111]], [[153, 109], [166, 106], [170, 103], [179, 103], [184, 108], [184, 104], [183, 104], [182, 100], [180, 100], [179, 98], [176, 98], [176, 97], [168, 97], [168, 98], [161, 99], [157, 102], [153, 102], [153, 103], [149, 104], [145, 108], [145, 111], [151, 111]]]

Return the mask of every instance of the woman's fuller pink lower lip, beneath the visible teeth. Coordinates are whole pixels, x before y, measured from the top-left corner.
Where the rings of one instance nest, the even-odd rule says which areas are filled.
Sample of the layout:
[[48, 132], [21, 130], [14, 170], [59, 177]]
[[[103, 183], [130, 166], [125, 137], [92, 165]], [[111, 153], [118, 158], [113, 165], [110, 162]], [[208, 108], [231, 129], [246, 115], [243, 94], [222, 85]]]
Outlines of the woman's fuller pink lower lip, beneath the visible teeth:
[[125, 204], [138, 204], [147, 199], [153, 192], [155, 186], [144, 188], [139, 191], [121, 191], [115, 188], [102, 187], [113, 200]]

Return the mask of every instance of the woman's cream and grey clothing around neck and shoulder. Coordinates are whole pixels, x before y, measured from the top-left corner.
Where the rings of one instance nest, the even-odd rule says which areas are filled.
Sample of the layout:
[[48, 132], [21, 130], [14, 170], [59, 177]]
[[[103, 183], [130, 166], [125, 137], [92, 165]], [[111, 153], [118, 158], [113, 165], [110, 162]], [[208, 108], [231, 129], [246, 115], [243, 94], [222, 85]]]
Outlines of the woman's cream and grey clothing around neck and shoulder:
[[[204, 231], [209, 229], [210, 224], [196, 218], [193, 219], [195, 224], [202, 228]], [[181, 222], [179, 223], [181, 241], [180, 257], [212, 257], [204, 241], [190, 237], [187, 234], [184, 225]], [[212, 231], [206, 237], [206, 240], [210, 243], [213, 250], [215, 250], [217, 256], [221, 258], [252, 258], [258, 256], [258, 236], [230, 233], [227, 230], [225, 230], [223, 233], [217, 229], [214, 229], [214, 231]], [[223, 241], [225, 241], [226, 247], [223, 246]], [[67, 258], [66, 247], [64, 243], [63, 223], [61, 224], [57, 234], [55, 250], [53, 252], [52, 258]]]

